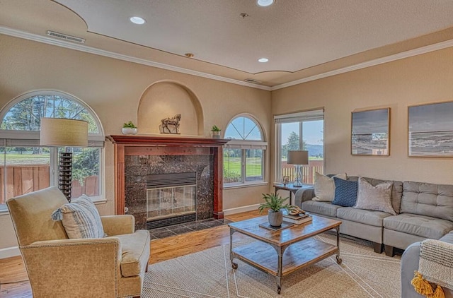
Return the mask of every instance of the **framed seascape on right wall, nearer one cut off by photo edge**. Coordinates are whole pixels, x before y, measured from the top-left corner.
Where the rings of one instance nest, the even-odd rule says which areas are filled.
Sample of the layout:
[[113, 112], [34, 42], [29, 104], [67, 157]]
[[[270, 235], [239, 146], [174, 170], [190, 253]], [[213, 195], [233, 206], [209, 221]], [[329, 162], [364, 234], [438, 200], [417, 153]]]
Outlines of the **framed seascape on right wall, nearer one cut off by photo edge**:
[[408, 107], [409, 156], [453, 156], [453, 102]]

